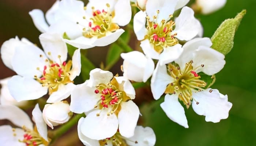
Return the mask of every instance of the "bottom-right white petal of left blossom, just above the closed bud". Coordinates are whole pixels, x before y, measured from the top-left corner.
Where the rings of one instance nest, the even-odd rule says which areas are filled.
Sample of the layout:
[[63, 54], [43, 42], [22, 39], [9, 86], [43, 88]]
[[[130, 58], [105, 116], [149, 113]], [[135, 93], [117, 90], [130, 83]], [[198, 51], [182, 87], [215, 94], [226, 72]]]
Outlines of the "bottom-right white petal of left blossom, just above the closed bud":
[[53, 92], [46, 102], [56, 103], [58, 101], [66, 99], [75, 87], [76, 85], [74, 85], [72, 82], [68, 83], [67, 85], [60, 84], [58, 90]]

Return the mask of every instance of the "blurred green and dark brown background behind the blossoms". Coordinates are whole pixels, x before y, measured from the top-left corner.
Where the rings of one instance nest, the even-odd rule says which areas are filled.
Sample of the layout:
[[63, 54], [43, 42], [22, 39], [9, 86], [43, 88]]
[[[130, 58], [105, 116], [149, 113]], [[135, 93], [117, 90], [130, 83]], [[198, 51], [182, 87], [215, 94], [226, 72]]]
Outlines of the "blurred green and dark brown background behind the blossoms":
[[[0, 44], [14, 38], [25, 37], [31, 42], [40, 44], [40, 32], [28, 14], [34, 8], [46, 12], [55, 0], [0, 0]], [[247, 146], [256, 145], [256, 1], [255, 0], [227, 0], [224, 8], [207, 16], [196, 15], [204, 27], [204, 37], [211, 37], [221, 22], [233, 18], [242, 9], [247, 10], [234, 39], [233, 50], [226, 55], [226, 65], [216, 77], [212, 88], [217, 88], [227, 94], [233, 103], [229, 118], [219, 123], [205, 122], [204, 116], [197, 115], [192, 108], [185, 110], [189, 128], [185, 129], [167, 118], [159, 107], [160, 101], [149, 104], [152, 95], [148, 88], [140, 89], [137, 102], [141, 104], [140, 119], [143, 126], [150, 126], [157, 135], [156, 146]], [[130, 45], [136, 38], [131, 38]], [[89, 49], [88, 58], [99, 67], [105, 60], [108, 47]], [[99, 53], [100, 52], [100, 53]], [[121, 60], [112, 68], [119, 72]], [[14, 75], [0, 60], [0, 79]], [[69, 138], [70, 143], [63, 139]], [[56, 145], [82, 145], [76, 136], [76, 128], [70, 130]], [[71, 144], [73, 143], [73, 144]]]

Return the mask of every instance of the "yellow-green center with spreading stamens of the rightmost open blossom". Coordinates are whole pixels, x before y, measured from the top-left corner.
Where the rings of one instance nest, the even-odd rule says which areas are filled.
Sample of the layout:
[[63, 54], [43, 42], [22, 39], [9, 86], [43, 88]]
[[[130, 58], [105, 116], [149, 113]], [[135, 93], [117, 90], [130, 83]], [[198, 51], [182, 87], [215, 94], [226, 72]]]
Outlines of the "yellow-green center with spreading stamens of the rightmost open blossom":
[[[179, 99], [187, 105], [187, 108], [192, 99], [196, 100], [192, 97], [192, 93], [203, 91], [203, 88], [207, 85], [207, 82], [200, 80], [201, 77], [193, 71], [204, 65], [193, 68], [192, 63], [193, 61], [187, 63], [184, 70], [173, 64], [167, 65], [167, 73], [174, 78], [174, 82], [167, 85], [165, 93], [178, 94]], [[196, 104], [199, 104], [199, 102], [196, 102]]]

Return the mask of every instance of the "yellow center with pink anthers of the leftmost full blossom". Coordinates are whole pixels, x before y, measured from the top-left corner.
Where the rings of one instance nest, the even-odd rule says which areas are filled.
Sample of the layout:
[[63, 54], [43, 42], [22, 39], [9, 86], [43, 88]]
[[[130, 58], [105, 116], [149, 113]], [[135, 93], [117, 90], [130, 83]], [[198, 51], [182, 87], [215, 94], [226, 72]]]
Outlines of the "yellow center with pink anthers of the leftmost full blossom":
[[[50, 55], [50, 52], [48, 52]], [[40, 55], [42, 57], [42, 55]], [[58, 58], [60, 59], [60, 55]], [[61, 61], [57, 63], [52, 60], [45, 59], [46, 65], [44, 66], [44, 70], [42, 71], [42, 76], [37, 77], [34, 76], [35, 80], [42, 84], [42, 87], [47, 86], [49, 89], [49, 94], [58, 90], [60, 84], [68, 84], [72, 82], [69, 79], [69, 71], [71, 70], [72, 61], [69, 60], [68, 63], [65, 61]], [[37, 70], [40, 70], [38, 67]]]

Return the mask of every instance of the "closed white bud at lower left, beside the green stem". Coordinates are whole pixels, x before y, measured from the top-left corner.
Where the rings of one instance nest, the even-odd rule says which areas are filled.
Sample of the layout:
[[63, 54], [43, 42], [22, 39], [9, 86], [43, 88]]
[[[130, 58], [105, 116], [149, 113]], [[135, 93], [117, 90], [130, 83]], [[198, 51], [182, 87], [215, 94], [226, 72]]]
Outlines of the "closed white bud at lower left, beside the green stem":
[[70, 119], [69, 104], [59, 101], [53, 104], [46, 104], [43, 110], [43, 118], [46, 124], [53, 129], [53, 126], [68, 122]]

